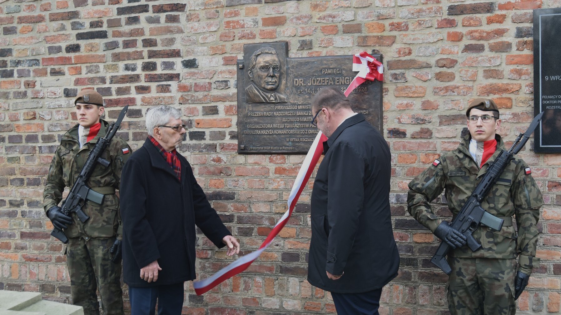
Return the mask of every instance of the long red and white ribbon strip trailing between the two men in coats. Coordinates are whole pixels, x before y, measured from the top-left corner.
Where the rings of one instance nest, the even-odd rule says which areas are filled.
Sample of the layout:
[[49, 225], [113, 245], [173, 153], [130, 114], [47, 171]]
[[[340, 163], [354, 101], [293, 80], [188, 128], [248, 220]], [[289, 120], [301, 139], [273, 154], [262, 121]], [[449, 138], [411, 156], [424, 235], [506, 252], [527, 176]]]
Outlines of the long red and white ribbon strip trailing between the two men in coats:
[[306, 183], [308, 179], [310, 179], [311, 173], [314, 171], [315, 165], [318, 164], [318, 160], [321, 156], [321, 152], [323, 152], [323, 142], [327, 140], [327, 137], [323, 135], [323, 133], [318, 132], [312, 146], [310, 147], [310, 151], [306, 155], [304, 162], [302, 162], [302, 166], [298, 175], [296, 175], [296, 180], [292, 186], [292, 190], [290, 191], [290, 196], [288, 197], [288, 210], [284, 212], [284, 215], [280, 218], [280, 220], [275, 224], [272, 231], [270, 231], [267, 238], [263, 241], [263, 244], [257, 249], [255, 252], [251, 252], [238, 258], [236, 261], [232, 262], [228, 266], [220, 269], [216, 274], [211, 276], [208, 279], [204, 279], [201, 281], [194, 281], [193, 286], [195, 288], [195, 292], [197, 295], [201, 295], [206, 291], [214, 288], [215, 286], [219, 285], [222, 281], [233, 277], [240, 272], [244, 271], [254, 262], [257, 257], [261, 253], [265, 251], [265, 249], [269, 246], [273, 239], [277, 234], [279, 234], [280, 230], [284, 228], [284, 225], [288, 222], [288, 218], [292, 214], [292, 210], [296, 206], [298, 202], [298, 198], [300, 197], [300, 193], [304, 187], [306, 187]]

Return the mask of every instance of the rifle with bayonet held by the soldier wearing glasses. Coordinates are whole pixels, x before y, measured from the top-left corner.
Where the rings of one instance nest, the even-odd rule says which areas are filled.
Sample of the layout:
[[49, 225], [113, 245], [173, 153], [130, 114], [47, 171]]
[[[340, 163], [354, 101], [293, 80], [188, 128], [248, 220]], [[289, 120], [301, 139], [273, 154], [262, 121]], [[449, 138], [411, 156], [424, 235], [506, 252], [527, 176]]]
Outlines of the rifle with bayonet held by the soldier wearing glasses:
[[[477, 249], [481, 248], [481, 244], [477, 242], [475, 238], [471, 235], [473, 231], [477, 229], [477, 227], [482, 224], [485, 226], [489, 226], [489, 228], [494, 230], [500, 230], [503, 228], [503, 219], [499, 219], [498, 217], [489, 214], [489, 212], [485, 211], [481, 207], [481, 202], [485, 199], [491, 187], [496, 183], [496, 180], [500, 177], [500, 174], [503, 173], [503, 170], [507, 167], [508, 163], [511, 162], [513, 159], [513, 155], [517, 154], [522, 147], [528, 141], [528, 138], [536, 129], [537, 124], [540, 122], [541, 116], [544, 112], [538, 114], [530, 127], [526, 130], [525, 133], [520, 133], [510, 150], [505, 151], [502, 150], [499, 153], [499, 156], [493, 161], [493, 164], [489, 165], [489, 169], [485, 176], [481, 179], [481, 182], [477, 184], [475, 191], [471, 194], [470, 198], [467, 202], [463, 205], [462, 210], [456, 216], [456, 219], [452, 221], [452, 228], [458, 230], [462, 233], [467, 240], [467, 245], [470, 249], [475, 252]], [[450, 265], [446, 261], [445, 256], [450, 251], [450, 245], [445, 242], [441, 242], [438, 249], [436, 249], [436, 253], [434, 254], [433, 258], [431, 258], [431, 262], [434, 263], [437, 267], [442, 269], [442, 271], [446, 272], [447, 275], [452, 272]]]

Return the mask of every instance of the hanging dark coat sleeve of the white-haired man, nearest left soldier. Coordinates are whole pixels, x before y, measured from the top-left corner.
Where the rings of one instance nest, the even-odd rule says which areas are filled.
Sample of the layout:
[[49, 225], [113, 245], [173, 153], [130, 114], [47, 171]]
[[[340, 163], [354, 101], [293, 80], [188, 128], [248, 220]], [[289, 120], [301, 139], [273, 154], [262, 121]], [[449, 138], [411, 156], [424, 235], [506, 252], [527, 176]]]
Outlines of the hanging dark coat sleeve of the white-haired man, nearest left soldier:
[[148, 196], [146, 170], [139, 161], [128, 160], [121, 173], [121, 217], [126, 240], [140, 268], [160, 258], [158, 243], [146, 219]]

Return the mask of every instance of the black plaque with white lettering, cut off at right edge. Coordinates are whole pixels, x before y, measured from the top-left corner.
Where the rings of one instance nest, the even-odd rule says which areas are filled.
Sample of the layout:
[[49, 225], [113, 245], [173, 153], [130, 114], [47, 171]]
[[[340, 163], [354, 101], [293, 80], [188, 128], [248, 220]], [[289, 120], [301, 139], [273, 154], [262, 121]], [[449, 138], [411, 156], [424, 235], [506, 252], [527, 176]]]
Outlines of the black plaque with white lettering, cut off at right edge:
[[561, 8], [534, 10], [535, 152], [561, 152]]

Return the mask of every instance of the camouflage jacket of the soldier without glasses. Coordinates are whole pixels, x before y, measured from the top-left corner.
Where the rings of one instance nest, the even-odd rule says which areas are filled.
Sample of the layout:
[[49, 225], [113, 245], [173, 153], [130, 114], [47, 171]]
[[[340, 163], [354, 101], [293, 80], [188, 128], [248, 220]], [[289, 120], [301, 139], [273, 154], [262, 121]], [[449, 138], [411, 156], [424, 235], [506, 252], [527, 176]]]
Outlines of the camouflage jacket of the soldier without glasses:
[[[65, 187], [72, 187], [90, 150], [95, 146], [99, 137], [104, 137], [107, 133], [109, 124], [101, 121], [102, 125], [98, 135], [84, 144], [80, 149], [78, 141], [78, 124], [72, 127], [62, 136], [61, 144], [54, 153], [53, 161], [50, 164], [47, 174], [47, 184], [43, 191], [43, 207], [45, 212], [52, 206], [59, 205], [62, 200], [62, 192]], [[128, 149], [123, 152], [123, 149]], [[121, 230], [121, 216], [119, 215], [119, 198], [114, 189], [119, 189], [121, 183], [121, 170], [123, 165], [131, 156], [132, 149], [121, 138], [115, 136], [111, 143], [105, 148], [102, 158], [111, 162], [108, 168], [97, 164], [90, 179], [88, 186], [94, 191], [104, 193], [103, 204], [86, 200], [82, 210], [90, 217], [85, 223], [78, 220], [76, 214], [72, 214], [73, 223], [65, 230], [67, 237], [113, 237], [117, 231]], [[104, 188], [99, 188], [104, 187]], [[121, 233], [119, 234], [119, 238]]]

